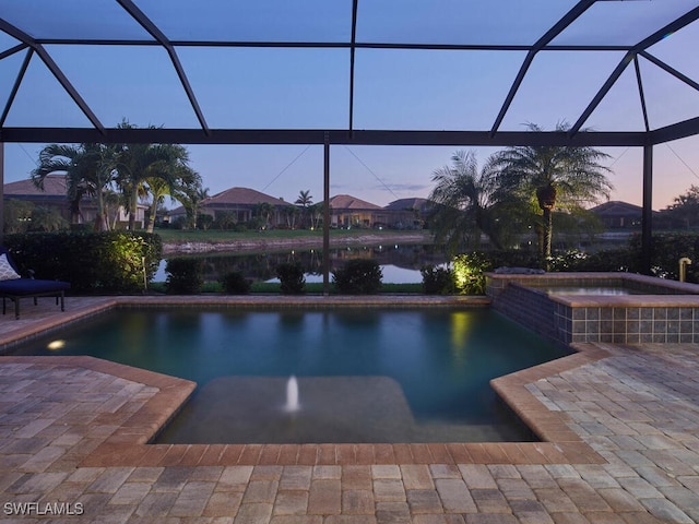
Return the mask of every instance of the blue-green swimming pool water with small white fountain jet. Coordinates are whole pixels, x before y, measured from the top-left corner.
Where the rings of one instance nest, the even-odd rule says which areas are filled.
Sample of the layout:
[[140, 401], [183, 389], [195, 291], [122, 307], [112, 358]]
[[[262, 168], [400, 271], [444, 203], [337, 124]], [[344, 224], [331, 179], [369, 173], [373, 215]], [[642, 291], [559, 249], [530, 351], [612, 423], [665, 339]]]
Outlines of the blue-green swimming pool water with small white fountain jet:
[[170, 443], [522, 441], [489, 380], [570, 352], [490, 309], [117, 310], [17, 347], [198, 383]]

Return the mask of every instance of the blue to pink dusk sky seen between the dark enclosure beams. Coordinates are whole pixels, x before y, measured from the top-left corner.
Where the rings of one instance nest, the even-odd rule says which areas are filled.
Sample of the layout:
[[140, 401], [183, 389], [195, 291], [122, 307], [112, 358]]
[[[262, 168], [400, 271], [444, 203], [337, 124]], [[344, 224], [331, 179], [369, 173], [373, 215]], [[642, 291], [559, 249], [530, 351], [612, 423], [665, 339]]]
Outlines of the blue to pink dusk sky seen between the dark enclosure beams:
[[[60, 5], [58, 5], [60, 3]], [[344, 41], [352, 2], [308, 0], [293, 5], [258, 2], [137, 2], [171, 39], [204, 35], [232, 39]], [[254, 3], [254, 2], [252, 2]], [[576, 2], [507, 0], [474, 16], [460, 14], [457, 0], [359, 2], [358, 41], [531, 44]], [[85, 5], [105, 20], [81, 17]], [[194, 5], [196, 4], [196, 5]], [[244, 7], [245, 5], [245, 9]], [[299, 7], [300, 5], [300, 7]], [[696, 0], [600, 2], [554, 44], [636, 44], [649, 21], [682, 14]], [[537, 9], [542, 11], [537, 11]], [[364, 10], [364, 11], [363, 11]], [[138, 37], [143, 29], [116, 2], [12, 2], [0, 0], [2, 17], [44, 37]], [[273, 17], [270, 19], [273, 13]], [[240, 21], [232, 32], [225, 23]], [[266, 16], [266, 19], [265, 19]], [[102, 20], [102, 19], [100, 19]], [[181, 20], [188, 22], [182, 26]], [[264, 20], [262, 24], [260, 21]], [[268, 23], [270, 20], [273, 22]], [[388, 23], [390, 21], [390, 23]], [[699, 28], [691, 24], [649, 48], [654, 57], [699, 81]], [[249, 33], [249, 34], [248, 34]], [[460, 35], [467, 34], [467, 38]], [[308, 36], [310, 35], [310, 36]], [[147, 36], [147, 35], [146, 35]], [[410, 38], [408, 38], [410, 37]], [[0, 52], [17, 40], [0, 32]], [[46, 45], [47, 51], [106, 127], [122, 119], [196, 128], [198, 121], [167, 53], [156, 46]], [[209, 126], [215, 128], [342, 129], [348, 115], [348, 50], [178, 47], [178, 57]], [[355, 129], [488, 130], [524, 59], [524, 51], [358, 49], [355, 70]], [[621, 51], [547, 51], [534, 59], [501, 130], [528, 122], [553, 129], [573, 123], [617, 66]], [[16, 52], [0, 60], [0, 107], [4, 107], [24, 60]], [[699, 92], [640, 58], [651, 129], [699, 115]], [[5, 120], [8, 127], [88, 126], [56, 79], [35, 55]], [[643, 128], [633, 67], [624, 72], [584, 123], [600, 131]], [[28, 177], [43, 144], [8, 143], [5, 181]], [[348, 193], [384, 205], [399, 198], [426, 196], [433, 171], [450, 163], [458, 148], [475, 150], [481, 163], [496, 151], [462, 147], [333, 146], [331, 194]], [[322, 199], [322, 147], [188, 145], [191, 166], [214, 194], [249, 187], [294, 201], [300, 190]], [[606, 148], [611, 155], [612, 200], [641, 203], [642, 152]], [[654, 209], [699, 186], [699, 139], [654, 148]]]

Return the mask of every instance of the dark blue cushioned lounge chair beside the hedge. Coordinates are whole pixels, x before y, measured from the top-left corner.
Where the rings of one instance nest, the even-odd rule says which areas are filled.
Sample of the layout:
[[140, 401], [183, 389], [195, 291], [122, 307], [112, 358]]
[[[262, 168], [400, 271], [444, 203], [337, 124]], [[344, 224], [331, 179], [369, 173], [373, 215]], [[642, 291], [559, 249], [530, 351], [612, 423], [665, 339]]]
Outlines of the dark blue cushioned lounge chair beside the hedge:
[[70, 283], [61, 281], [44, 281], [31, 276], [24, 278], [12, 260], [7, 248], [0, 246], [0, 297], [2, 297], [2, 314], [7, 311], [7, 300], [14, 301], [14, 318], [20, 318], [20, 298], [33, 297], [34, 305], [37, 297], [56, 297], [56, 305], [60, 299], [61, 311], [66, 311], [66, 290]]

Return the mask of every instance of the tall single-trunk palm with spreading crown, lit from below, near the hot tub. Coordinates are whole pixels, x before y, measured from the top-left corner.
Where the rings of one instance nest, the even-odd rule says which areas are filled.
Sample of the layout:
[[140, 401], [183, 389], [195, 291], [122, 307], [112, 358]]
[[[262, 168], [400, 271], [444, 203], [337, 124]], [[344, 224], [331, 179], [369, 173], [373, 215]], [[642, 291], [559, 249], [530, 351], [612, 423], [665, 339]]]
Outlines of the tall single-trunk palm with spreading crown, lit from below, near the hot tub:
[[[556, 131], [566, 132], [559, 123]], [[529, 124], [530, 131], [542, 131]], [[512, 146], [495, 153], [490, 168], [498, 174], [502, 190], [534, 201], [541, 211], [540, 257], [548, 269], [553, 236], [553, 212], [581, 207], [609, 196], [609, 169], [601, 164], [609, 155], [589, 146], [528, 145]]]

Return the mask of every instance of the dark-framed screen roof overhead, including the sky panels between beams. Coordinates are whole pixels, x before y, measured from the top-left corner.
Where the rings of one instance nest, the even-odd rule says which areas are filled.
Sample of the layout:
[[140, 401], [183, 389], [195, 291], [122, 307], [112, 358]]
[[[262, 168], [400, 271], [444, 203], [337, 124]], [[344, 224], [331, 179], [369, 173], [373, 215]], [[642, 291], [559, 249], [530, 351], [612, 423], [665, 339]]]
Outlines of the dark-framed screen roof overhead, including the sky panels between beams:
[[697, 0], [0, 0], [0, 140], [661, 143], [699, 133], [697, 19]]

